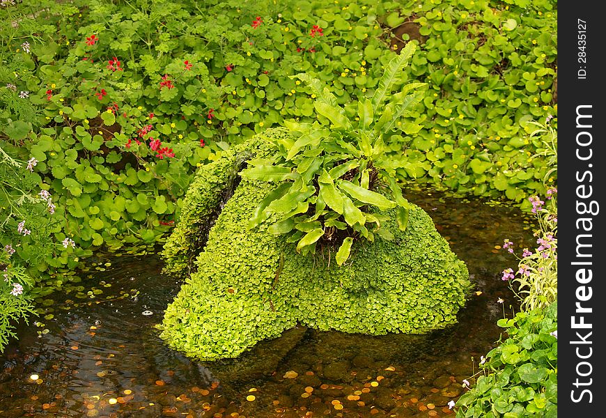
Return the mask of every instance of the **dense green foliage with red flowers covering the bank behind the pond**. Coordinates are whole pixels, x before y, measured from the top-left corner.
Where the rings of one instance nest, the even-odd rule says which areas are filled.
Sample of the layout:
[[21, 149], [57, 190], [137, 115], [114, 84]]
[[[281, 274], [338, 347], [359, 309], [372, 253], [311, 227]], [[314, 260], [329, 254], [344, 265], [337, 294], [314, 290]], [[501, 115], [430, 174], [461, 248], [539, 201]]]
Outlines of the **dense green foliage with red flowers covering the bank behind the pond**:
[[545, 192], [527, 121], [557, 114], [556, 25], [547, 0], [24, 1], [0, 9], [0, 137], [39, 161], [67, 219], [55, 239], [88, 252], [161, 241], [198, 164], [311, 122], [313, 98], [291, 76], [330, 86], [352, 120], [396, 56], [387, 43], [412, 36], [403, 77], [430, 93], [387, 141], [411, 164], [398, 178], [527, 205]]

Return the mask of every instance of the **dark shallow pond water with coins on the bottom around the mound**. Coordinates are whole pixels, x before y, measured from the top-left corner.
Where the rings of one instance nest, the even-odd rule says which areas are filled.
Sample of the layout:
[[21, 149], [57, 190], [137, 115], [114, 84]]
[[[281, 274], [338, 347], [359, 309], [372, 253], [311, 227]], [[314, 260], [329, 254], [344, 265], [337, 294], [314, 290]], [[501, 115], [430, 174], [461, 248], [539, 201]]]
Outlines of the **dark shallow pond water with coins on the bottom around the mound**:
[[496, 345], [496, 321], [516, 309], [500, 278], [517, 261], [495, 247], [508, 238], [533, 248], [533, 219], [439, 192], [407, 196], [476, 285], [456, 325], [424, 336], [298, 327], [235, 360], [192, 362], [154, 327], [180, 286], [160, 258], [98, 254], [84, 287], [50, 295], [0, 357], [0, 417], [454, 416], [447, 403]]

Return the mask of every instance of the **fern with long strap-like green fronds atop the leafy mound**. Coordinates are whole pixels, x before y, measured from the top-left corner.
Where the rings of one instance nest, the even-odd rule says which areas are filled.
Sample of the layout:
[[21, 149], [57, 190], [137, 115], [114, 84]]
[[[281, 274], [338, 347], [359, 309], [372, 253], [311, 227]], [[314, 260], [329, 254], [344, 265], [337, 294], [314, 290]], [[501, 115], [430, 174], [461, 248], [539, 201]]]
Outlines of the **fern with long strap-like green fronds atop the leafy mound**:
[[[409, 205], [396, 183], [396, 169], [413, 169], [414, 163], [387, 155], [387, 150], [398, 120], [424, 98], [426, 84], [417, 82], [391, 94], [404, 82], [403, 68], [415, 48], [408, 42], [385, 68], [372, 97], [358, 102], [359, 121], [348, 118], [318, 79], [293, 76], [311, 88], [321, 117], [313, 123], [286, 122], [291, 135], [277, 141], [277, 153], [251, 160], [242, 171], [243, 178], [279, 183], [256, 208], [249, 228], [271, 217], [268, 231], [287, 235], [302, 254], [315, 253], [318, 244], [338, 246], [339, 265], [349, 258], [355, 239], [373, 241], [375, 234], [393, 239], [381, 228], [389, 219], [381, 211], [397, 208], [398, 226], [406, 228]], [[406, 134], [420, 129], [412, 123], [403, 126]]]

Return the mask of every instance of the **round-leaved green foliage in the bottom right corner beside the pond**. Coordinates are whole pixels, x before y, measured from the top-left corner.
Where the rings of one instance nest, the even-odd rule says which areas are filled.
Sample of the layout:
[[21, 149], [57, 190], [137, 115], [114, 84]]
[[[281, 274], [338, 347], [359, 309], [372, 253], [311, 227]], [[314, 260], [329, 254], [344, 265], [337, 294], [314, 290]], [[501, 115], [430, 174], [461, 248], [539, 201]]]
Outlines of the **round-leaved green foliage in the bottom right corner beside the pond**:
[[456, 402], [458, 418], [557, 417], [557, 302], [497, 325], [507, 338]]

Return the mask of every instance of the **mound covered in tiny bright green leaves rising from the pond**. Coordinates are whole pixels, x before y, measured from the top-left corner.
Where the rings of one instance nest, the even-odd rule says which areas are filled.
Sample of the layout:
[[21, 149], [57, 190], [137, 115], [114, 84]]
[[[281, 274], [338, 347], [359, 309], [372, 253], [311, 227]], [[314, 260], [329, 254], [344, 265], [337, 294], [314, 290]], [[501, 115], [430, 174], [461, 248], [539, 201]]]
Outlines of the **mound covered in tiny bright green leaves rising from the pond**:
[[294, 244], [268, 233], [267, 224], [247, 229], [275, 185], [243, 179], [221, 208], [242, 163], [272, 153], [264, 135], [287, 133], [266, 131], [201, 167], [187, 192], [163, 253], [168, 272], [189, 276], [160, 325], [169, 346], [212, 360], [236, 357], [297, 323], [380, 335], [421, 334], [456, 322], [469, 290], [467, 267], [417, 206], [406, 231], [387, 222], [394, 240], [355, 242], [341, 267], [334, 254], [332, 262], [327, 252], [297, 254]]

